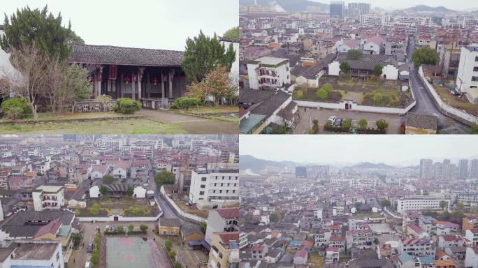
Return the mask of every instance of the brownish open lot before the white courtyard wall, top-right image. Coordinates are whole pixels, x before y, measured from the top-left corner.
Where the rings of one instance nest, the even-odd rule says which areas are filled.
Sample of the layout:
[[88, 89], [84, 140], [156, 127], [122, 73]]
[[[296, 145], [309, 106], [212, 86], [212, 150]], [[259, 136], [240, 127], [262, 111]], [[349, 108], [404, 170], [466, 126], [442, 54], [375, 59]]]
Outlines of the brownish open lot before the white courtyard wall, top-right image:
[[367, 119], [368, 126], [370, 127], [375, 127], [375, 121], [384, 119], [389, 123], [389, 128], [386, 129], [387, 134], [399, 134], [400, 124], [402, 123], [402, 120], [405, 120], [404, 117], [395, 114], [377, 114], [372, 112], [307, 109], [304, 115], [303, 107], [299, 107], [298, 112], [300, 112], [300, 121], [296, 128], [294, 128], [294, 134], [308, 133], [310, 131], [310, 122], [314, 119], [319, 121], [319, 134], [324, 134], [324, 124], [331, 115], [342, 119], [350, 118], [352, 119], [352, 125], [354, 126], [356, 126], [357, 121], [362, 118]]

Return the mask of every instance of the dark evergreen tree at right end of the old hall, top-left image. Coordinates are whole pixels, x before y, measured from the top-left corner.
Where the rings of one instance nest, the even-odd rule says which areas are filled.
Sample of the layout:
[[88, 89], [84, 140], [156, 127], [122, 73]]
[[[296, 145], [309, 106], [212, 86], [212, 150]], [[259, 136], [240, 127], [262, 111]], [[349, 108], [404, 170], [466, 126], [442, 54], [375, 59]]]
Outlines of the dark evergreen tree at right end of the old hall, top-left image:
[[226, 50], [216, 34], [210, 38], [200, 31], [199, 36], [186, 40], [182, 70], [186, 73], [189, 82], [201, 82], [217, 66], [224, 66], [230, 72], [235, 60], [236, 52], [232, 44]]

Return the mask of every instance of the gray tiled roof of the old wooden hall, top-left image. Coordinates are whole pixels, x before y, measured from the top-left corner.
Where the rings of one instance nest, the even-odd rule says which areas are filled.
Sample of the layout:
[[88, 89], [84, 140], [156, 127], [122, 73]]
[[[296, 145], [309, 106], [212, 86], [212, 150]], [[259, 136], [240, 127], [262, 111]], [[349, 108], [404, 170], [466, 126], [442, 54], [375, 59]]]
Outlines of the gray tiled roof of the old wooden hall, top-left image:
[[181, 66], [184, 52], [110, 45], [73, 45], [68, 61], [80, 64]]

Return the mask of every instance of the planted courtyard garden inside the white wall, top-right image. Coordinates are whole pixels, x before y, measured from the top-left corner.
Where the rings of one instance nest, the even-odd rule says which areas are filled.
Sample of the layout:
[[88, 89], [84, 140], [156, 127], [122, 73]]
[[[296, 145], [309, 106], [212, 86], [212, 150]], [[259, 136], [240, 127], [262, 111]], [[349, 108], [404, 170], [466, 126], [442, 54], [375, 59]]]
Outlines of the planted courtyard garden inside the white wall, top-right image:
[[[302, 101], [325, 101], [337, 103], [339, 101], [354, 101], [361, 105], [405, 107], [412, 102], [410, 91], [402, 91], [402, 86], [408, 86], [407, 82], [400, 80], [363, 80], [356, 78], [338, 78], [324, 76], [319, 80], [321, 87], [330, 84], [328, 94], [319, 97], [317, 88], [296, 87], [294, 98]], [[302, 91], [302, 94], [297, 91]], [[302, 96], [302, 97], [300, 97]]]

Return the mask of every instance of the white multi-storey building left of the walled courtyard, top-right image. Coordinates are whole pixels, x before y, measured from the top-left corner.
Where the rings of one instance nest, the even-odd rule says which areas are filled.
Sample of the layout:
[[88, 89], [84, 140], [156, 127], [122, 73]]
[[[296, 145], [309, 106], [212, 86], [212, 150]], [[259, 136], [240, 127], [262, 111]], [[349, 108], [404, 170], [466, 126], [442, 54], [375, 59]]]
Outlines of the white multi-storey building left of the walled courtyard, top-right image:
[[289, 59], [262, 57], [247, 63], [251, 89], [280, 89], [291, 84]]

